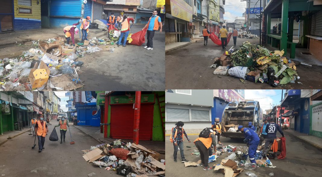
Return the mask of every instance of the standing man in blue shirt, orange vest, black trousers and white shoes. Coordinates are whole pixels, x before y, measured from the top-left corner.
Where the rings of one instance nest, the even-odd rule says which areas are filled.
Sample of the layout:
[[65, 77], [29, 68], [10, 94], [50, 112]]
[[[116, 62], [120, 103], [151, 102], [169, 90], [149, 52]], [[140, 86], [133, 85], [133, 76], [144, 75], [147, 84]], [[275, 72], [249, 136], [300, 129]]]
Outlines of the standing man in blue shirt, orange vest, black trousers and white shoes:
[[150, 17], [147, 24], [143, 27], [142, 31], [147, 28], [147, 46], [143, 47], [147, 50], [153, 50], [153, 37], [154, 32], [159, 29], [160, 25], [160, 33], [162, 32], [162, 23], [161, 18], [157, 16], [157, 11], [153, 11], [152, 17]]

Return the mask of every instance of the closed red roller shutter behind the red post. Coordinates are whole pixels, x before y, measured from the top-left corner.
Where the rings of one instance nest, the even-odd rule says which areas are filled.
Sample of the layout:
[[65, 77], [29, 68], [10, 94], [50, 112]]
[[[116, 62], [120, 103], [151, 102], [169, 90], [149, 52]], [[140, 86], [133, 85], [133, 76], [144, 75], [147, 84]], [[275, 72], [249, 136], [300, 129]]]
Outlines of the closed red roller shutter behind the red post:
[[[133, 139], [133, 104], [111, 105], [111, 138]], [[139, 140], [151, 140], [153, 104], [141, 104]]]

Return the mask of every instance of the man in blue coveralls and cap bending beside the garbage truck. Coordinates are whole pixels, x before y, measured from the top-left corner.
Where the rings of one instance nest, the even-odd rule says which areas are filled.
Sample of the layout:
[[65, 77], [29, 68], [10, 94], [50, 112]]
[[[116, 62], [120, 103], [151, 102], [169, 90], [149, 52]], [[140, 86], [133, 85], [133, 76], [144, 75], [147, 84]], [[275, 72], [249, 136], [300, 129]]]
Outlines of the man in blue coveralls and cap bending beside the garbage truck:
[[238, 126], [238, 131], [241, 131], [245, 135], [245, 142], [249, 145], [248, 148], [248, 156], [251, 163], [256, 163], [255, 154], [257, 150], [257, 146], [260, 143], [260, 137], [256, 134], [256, 132], [251, 128], [244, 128], [244, 126]]

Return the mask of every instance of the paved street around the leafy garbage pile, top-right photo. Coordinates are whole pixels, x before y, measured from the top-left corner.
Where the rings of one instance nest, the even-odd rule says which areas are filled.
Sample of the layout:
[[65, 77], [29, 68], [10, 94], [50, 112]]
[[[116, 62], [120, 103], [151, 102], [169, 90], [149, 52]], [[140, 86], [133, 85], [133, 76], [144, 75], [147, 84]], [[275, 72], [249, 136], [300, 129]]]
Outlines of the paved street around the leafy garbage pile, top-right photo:
[[[244, 41], [252, 44], [259, 43], [259, 39], [237, 38], [237, 46]], [[233, 39], [227, 45], [227, 50], [233, 46]], [[300, 80], [295, 84], [286, 84], [286, 87], [272, 87], [266, 83], [242, 83], [239, 78], [227, 75], [214, 75], [215, 68], [210, 68], [215, 57], [224, 53], [221, 46], [208, 40], [204, 46], [203, 40], [193, 43], [166, 54], [166, 88], [176, 89], [318, 89], [322, 86], [322, 66], [297, 66]], [[220, 76], [220, 77], [218, 77]], [[299, 84], [297, 82], [301, 82]]]

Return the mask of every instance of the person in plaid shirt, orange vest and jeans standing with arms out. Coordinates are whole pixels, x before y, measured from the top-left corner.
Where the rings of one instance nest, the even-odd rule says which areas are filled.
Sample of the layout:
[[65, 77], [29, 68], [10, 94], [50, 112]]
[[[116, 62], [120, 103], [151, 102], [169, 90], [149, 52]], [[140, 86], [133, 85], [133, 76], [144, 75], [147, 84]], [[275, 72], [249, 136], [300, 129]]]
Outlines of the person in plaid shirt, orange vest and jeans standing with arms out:
[[180, 155], [182, 159], [182, 163], [188, 162], [189, 160], [185, 159], [185, 154], [183, 152], [183, 134], [185, 134], [185, 137], [187, 138], [188, 142], [190, 143], [190, 139], [188, 135], [185, 133], [185, 130], [182, 128], [185, 124], [182, 121], [179, 121], [175, 123], [175, 127], [172, 128], [172, 133], [170, 137], [170, 141], [173, 143], [174, 147], [174, 153], [173, 153], [173, 159], [174, 162], [177, 162], [177, 153], [178, 153], [178, 147], [180, 148]]

